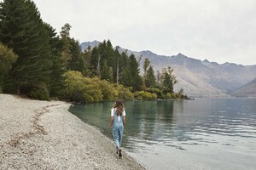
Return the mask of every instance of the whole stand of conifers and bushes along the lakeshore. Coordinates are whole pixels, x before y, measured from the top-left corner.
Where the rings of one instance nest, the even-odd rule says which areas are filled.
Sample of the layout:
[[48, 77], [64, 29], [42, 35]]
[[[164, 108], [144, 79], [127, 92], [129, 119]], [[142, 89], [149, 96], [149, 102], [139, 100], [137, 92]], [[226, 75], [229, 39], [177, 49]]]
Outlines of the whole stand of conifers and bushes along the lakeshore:
[[111, 42], [81, 51], [66, 24], [58, 35], [30, 0], [0, 3], [0, 92], [33, 99], [97, 102], [122, 99], [186, 99], [171, 67], [154, 73], [144, 60], [143, 76], [133, 54]]

